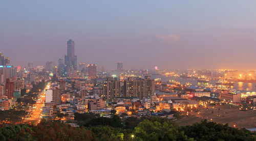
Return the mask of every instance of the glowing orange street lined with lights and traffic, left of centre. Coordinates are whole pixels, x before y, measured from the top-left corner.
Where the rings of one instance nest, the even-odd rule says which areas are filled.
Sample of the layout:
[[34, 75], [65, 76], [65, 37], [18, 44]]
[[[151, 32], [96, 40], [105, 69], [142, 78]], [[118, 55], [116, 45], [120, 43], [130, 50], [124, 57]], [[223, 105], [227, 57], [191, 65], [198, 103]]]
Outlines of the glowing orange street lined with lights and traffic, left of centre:
[[38, 95], [36, 104], [33, 105], [33, 109], [30, 112], [29, 117], [26, 118], [24, 122], [33, 122], [35, 125], [37, 125], [40, 122], [40, 114], [46, 98], [45, 90], [48, 90], [50, 88], [50, 84], [51, 83], [49, 82], [45, 89], [42, 90], [41, 93]]

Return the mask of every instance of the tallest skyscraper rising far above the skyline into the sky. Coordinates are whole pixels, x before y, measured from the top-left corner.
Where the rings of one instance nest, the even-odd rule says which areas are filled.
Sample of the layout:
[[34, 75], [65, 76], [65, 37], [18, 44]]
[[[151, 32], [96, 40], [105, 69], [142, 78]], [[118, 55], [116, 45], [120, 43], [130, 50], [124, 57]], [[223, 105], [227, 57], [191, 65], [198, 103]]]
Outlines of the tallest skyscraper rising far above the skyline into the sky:
[[65, 55], [66, 72], [69, 74], [73, 70], [77, 70], [77, 57], [75, 55], [75, 42], [69, 40], [67, 42], [67, 55]]

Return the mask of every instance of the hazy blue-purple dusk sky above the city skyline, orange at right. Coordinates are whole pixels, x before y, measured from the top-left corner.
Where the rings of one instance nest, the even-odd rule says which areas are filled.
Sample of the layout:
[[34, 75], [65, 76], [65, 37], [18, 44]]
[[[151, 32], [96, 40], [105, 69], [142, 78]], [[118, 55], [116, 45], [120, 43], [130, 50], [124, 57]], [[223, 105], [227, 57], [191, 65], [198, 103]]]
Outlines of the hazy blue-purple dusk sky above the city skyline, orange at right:
[[14, 66], [256, 69], [256, 1], [3, 1], [0, 52]]

